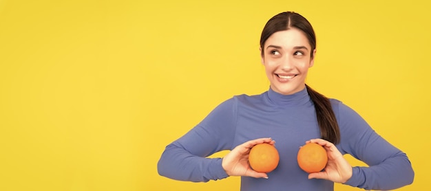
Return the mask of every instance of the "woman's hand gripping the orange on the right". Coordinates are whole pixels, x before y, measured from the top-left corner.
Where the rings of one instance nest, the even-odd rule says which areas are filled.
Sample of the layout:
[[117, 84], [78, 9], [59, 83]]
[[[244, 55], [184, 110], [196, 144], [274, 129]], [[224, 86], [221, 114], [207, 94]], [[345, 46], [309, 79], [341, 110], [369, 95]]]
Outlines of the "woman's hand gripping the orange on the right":
[[339, 153], [337, 147], [324, 139], [311, 139], [308, 142], [317, 143], [323, 146], [328, 154], [328, 164], [324, 171], [314, 172], [308, 175], [308, 179], [327, 179], [337, 183], [345, 183], [352, 177], [352, 166]]

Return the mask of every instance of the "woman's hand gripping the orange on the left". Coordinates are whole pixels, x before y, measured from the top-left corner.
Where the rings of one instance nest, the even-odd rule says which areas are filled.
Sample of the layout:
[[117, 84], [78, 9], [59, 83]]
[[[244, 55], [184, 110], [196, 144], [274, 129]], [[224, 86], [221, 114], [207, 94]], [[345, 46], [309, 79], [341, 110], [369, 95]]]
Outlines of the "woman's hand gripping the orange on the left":
[[268, 178], [263, 172], [256, 172], [249, 165], [249, 153], [251, 148], [256, 144], [275, 144], [271, 138], [254, 139], [233, 148], [226, 156], [223, 157], [222, 167], [229, 176], [247, 176], [255, 178]]

